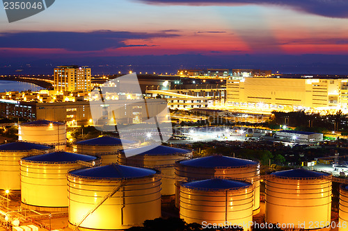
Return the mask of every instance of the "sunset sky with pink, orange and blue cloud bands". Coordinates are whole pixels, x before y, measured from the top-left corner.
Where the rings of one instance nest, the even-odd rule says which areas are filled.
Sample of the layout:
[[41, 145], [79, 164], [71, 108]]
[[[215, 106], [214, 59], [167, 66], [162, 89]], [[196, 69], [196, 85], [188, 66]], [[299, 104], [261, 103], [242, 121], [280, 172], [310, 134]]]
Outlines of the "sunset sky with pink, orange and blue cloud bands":
[[348, 55], [347, 1], [56, 0], [13, 23], [0, 10], [1, 64], [66, 55], [308, 54], [322, 62]]

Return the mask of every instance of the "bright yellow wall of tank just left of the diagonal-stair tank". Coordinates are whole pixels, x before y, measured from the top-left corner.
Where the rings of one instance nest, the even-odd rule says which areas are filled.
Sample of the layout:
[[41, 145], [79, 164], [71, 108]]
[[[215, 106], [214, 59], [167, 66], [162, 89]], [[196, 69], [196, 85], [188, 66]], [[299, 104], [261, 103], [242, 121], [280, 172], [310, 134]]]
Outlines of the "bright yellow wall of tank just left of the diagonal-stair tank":
[[21, 200], [38, 207], [68, 207], [68, 171], [80, 164], [43, 164], [21, 160]]

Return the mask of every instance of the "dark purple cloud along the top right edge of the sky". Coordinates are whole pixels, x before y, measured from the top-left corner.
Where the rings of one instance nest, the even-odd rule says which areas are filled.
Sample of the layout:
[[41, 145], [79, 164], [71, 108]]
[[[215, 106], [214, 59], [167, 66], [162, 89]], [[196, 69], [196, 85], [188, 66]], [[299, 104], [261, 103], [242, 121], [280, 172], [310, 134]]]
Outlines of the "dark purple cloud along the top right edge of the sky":
[[139, 0], [150, 4], [173, 5], [274, 5], [325, 17], [348, 17], [347, 0]]

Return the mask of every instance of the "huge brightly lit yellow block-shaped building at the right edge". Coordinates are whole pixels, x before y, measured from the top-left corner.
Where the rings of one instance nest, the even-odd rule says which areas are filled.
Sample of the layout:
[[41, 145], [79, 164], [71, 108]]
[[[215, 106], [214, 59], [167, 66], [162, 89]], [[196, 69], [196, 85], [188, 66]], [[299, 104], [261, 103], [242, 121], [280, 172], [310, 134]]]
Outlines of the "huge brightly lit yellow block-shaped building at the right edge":
[[230, 77], [227, 103], [269, 110], [347, 109], [348, 79]]

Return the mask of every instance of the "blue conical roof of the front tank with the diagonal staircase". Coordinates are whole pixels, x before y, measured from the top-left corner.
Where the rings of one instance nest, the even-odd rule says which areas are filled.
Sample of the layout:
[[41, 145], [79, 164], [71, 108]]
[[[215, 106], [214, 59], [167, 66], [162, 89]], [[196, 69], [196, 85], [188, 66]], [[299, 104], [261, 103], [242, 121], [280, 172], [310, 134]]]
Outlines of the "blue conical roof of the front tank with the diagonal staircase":
[[77, 169], [70, 171], [70, 174], [83, 178], [95, 179], [128, 179], [128, 178], [143, 178], [152, 176], [156, 173], [152, 169], [138, 168], [134, 166], [125, 166], [119, 164], [109, 164], [106, 166], [98, 166], [91, 169]]

